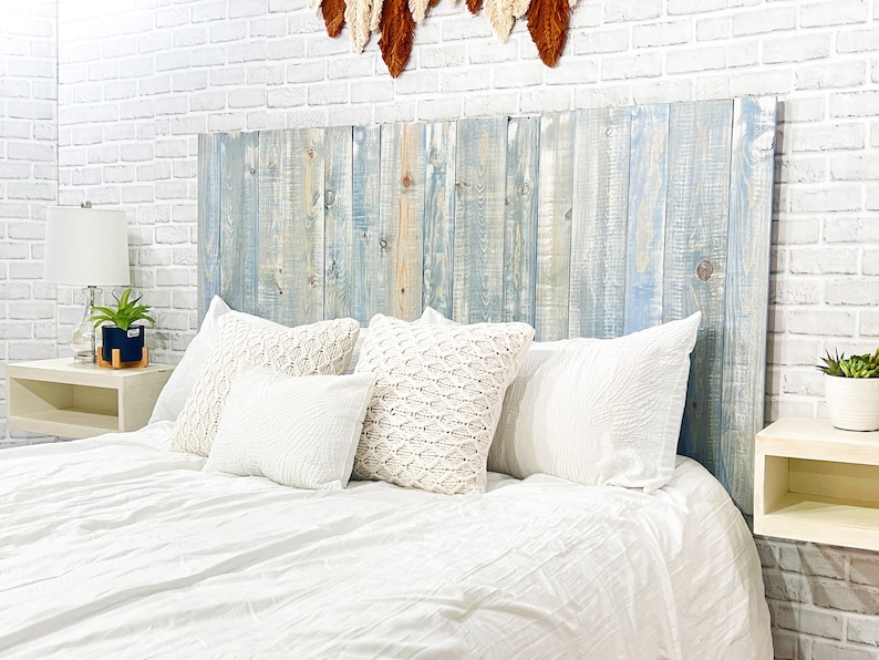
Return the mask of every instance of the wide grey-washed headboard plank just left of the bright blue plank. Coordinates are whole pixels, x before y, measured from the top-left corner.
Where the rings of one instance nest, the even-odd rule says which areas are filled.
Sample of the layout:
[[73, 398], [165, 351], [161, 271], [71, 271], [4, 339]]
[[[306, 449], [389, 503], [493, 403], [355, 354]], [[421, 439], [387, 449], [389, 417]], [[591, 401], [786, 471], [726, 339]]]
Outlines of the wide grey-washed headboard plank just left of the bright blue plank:
[[576, 115], [571, 337], [623, 333], [631, 125], [632, 113], [625, 107]]

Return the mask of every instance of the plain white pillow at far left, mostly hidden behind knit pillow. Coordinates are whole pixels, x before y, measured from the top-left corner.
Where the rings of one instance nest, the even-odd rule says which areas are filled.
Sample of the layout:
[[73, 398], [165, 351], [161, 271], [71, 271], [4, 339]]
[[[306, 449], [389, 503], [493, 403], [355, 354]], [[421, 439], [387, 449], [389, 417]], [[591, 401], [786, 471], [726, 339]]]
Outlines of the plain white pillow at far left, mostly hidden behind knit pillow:
[[153, 414], [149, 416], [151, 424], [162, 421], [173, 422], [180, 414], [186, 398], [205, 371], [205, 364], [210, 355], [210, 347], [219, 332], [220, 321], [229, 312], [231, 312], [229, 306], [219, 296], [214, 296], [198, 333], [189, 342], [179, 364], [170, 373], [168, 382], [158, 394]]

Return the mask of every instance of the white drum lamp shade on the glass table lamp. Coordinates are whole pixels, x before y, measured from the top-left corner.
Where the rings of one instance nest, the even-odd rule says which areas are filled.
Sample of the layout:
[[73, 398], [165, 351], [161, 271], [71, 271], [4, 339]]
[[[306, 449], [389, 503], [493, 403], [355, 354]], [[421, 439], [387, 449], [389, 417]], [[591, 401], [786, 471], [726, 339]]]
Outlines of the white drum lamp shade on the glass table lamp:
[[62, 285], [130, 283], [124, 210], [50, 206], [43, 279]]

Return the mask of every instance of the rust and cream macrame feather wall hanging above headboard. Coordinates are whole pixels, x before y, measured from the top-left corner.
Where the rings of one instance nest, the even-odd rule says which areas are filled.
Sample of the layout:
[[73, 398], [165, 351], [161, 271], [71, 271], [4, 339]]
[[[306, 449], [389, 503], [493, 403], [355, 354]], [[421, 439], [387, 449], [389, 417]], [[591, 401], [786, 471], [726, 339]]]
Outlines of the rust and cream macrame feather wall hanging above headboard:
[[[393, 78], [403, 72], [412, 53], [415, 25], [439, 0], [309, 0], [323, 17], [327, 33], [339, 37], [348, 23], [351, 42], [362, 53], [373, 32], [380, 32], [379, 50]], [[517, 19], [525, 17], [537, 53], [555, 66], [565, 48], [570, 10], [577, 0], [466, 0], [473, 14], [482, 9], [500, 41], [507, 41]]]

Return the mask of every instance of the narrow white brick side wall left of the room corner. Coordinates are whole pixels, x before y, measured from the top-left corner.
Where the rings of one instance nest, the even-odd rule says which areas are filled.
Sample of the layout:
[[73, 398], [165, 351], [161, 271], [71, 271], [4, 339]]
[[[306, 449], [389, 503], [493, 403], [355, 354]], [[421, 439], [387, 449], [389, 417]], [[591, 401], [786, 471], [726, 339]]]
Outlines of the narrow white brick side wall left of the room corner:
[[35, 440], [7, 430], [7, 361], [55, 350], [55, 289], [41, 281], [41, 259], [58, 195], [56, 33], [54, 0], [0, 9], [0, 446]]

